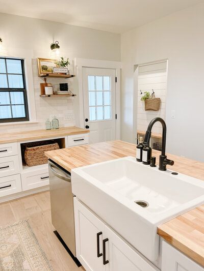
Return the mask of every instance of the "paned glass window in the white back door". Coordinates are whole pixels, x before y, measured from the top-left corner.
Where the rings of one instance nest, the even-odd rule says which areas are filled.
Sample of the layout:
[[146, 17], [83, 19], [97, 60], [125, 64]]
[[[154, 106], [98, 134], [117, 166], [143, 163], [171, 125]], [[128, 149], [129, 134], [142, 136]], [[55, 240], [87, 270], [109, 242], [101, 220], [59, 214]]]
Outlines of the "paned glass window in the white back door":
[[90, 121], [111, 119], [110, 80], [110, 76], [88, 76]]

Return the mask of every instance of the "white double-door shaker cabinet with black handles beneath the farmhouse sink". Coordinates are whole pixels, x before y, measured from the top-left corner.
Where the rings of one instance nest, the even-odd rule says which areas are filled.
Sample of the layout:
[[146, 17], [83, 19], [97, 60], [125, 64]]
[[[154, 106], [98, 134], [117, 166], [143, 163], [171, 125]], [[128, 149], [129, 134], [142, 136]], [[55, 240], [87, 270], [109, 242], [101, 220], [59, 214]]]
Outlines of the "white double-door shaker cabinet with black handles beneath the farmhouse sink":
[[125, 240], [74, 198], [77, 258], [86, 271], [156, 271]]

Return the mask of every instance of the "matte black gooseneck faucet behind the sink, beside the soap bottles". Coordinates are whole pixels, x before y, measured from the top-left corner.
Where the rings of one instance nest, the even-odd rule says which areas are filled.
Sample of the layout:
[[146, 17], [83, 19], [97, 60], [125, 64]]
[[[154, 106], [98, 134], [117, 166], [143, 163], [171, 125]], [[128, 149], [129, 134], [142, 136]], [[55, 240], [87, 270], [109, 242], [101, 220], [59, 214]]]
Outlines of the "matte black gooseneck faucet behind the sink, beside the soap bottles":
[[162, 154], [160, 155], [160, 163], [159, 170], [166, 170], [166, 165], [173, 165], [174, 162], [172, 160], [167, 159], [166, 153], [166, 123], [163, 118], [156, 117], [152, 119], [147, 127], [147, 131], [144, 136], [143, 145], [149, 146], [150, 138], [151, 138], [151, 129], [156, 122], [160, 122], [162, 124]]

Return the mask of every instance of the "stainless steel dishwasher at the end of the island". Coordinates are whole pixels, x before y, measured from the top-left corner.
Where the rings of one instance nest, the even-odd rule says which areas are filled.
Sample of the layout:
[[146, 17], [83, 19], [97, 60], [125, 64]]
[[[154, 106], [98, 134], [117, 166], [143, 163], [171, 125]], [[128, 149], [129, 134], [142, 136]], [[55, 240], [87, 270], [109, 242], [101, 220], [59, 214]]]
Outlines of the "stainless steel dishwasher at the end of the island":
[[[71, 174], [49, 159], [48, 166], [52, 224], [75, 258], [76, 249]], [[75, 258], [74, 261], [78, 261], [77, 258]]]

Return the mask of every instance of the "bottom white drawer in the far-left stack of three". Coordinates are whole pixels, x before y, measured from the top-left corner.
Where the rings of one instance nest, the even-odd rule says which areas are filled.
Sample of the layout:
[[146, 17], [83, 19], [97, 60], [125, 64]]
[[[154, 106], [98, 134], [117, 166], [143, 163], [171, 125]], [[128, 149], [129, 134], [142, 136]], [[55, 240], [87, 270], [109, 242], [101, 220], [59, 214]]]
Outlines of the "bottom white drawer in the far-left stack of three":
[[0, 197], [21, 192], [20, 174], [0, 178]]

